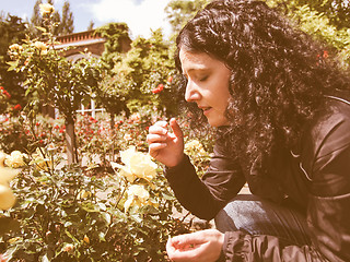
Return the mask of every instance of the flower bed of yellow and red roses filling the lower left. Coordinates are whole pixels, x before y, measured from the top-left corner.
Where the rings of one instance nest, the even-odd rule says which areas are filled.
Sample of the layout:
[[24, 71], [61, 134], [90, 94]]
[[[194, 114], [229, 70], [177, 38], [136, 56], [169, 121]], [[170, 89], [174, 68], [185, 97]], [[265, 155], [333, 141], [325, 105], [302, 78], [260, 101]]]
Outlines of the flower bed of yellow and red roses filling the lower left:
[[[182, 209], [147, 154], [148, 127], [162, 117], [120, 116], [110, 128], [106, 115], [79, 116], [78, 148], [89, 157], [71, 166], [62, 157], [61, 119], [20, 118], [9, 120], [15, 124], [8, 133], [23, 130], [26, 142], [12, 145], [12, 157], [2, 148], [8, 166], [21, 167], [11, 182], [16, 202], [0, 212], [0, 253], [8, 261], [166, 261], [167, 238], [190, 225], [173, 216]], [[186, 152], [205, 169], [208, 153], [198, 143]]]

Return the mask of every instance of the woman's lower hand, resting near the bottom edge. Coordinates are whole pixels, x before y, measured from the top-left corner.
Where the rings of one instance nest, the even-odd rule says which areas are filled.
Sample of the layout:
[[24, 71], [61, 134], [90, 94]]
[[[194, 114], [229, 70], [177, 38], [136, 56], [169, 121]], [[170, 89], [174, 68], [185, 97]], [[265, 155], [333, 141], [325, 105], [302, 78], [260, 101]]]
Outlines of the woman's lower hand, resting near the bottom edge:
[[220, 257], [224, 234], [207, 229], [168, 239], [166, 252], [172, 261], [211, 262]]

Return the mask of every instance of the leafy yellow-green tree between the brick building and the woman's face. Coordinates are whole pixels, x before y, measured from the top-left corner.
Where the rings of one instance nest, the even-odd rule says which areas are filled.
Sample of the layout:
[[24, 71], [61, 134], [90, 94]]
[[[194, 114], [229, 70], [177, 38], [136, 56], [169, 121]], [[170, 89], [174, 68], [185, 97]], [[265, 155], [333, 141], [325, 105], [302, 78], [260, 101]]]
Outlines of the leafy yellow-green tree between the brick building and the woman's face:
[[171, 50], [161, 29], [158, 29], [152, 32], [149, 39], [135, 39], [131, 49], [126, 53], [115, 53], [113, 59], [106, 53], [114, 67], [107, 71], [101, 88], [119, 99], [110, 103], [110, 110], [120, 109], [122, 105], [131, 112], [142, 108], [174, 114], [176, 97], [172, 87], [176, 81], [173, 80], [175, 64]]

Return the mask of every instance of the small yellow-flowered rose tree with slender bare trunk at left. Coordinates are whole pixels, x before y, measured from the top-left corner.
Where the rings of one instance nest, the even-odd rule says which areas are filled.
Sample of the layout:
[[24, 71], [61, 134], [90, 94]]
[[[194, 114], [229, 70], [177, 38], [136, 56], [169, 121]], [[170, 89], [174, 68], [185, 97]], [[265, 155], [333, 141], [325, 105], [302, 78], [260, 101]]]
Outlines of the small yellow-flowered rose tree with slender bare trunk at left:
[[[49, 28], [52, 27], [54, 13], [44, 16], [44, 23]], [[51, 25], [49, 25], [51, 24]], [[9, 70], [22, 72], [25, 78], [23, 85], [27, 86], [26, 94], [32, 94], [33, 99], [28, 109], [35, 118], [37, 105], [40, 104], [39, 97], [45, 97], [47, 104], [58, 108], [66, 120], [66, 142], [68, 163], [78, 163], [74, 119], [75, 111], [80, 105], [91, 99], [93, 90], [97, 87], [100, 73], [96, 72], [98, 67], [93, 58], [70, 61], [63, 57], [63, 50], [54, 48], [55, 37], [51, 31], [43, 34], [47, 39], [46, 43], [36, 39], [27, 39], [21, 46], [11, 49], [13, 61]]]

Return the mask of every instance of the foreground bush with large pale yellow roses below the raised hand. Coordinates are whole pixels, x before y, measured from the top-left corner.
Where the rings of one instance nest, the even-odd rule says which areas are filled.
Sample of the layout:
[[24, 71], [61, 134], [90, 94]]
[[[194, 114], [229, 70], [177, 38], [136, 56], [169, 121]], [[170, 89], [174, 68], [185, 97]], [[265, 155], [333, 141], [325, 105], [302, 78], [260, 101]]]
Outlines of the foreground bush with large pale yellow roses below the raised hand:
[[50, 144], [38, 148], [12, 180], [16, 204], [0, 212], [8, 261], [166, 261], [168, 236], [189, 230], [172, 216], [179, 204], [144, 153], [120, 154], [137, 175], [130, 183], [120, 174], [97, 178], [89, 168], [62, 166]]

